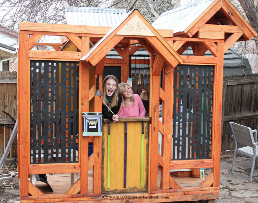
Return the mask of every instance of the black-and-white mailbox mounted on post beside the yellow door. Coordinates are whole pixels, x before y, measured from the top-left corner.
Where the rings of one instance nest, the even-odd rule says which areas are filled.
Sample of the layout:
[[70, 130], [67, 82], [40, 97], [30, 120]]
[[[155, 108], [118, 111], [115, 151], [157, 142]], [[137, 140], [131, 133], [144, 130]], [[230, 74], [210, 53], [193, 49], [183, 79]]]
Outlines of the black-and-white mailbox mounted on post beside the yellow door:
[[83, 136], [101, 136], [102, 135], [102, 113], [83, 112]]

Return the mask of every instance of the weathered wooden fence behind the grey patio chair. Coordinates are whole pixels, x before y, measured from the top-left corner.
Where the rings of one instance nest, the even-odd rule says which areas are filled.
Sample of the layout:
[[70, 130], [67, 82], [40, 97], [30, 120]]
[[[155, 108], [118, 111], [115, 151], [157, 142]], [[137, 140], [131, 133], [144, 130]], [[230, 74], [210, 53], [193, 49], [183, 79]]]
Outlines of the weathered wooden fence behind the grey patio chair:
[[222, 150], [234, 149], [230, 121], [257, 129], [258, 74], [223, 77]]

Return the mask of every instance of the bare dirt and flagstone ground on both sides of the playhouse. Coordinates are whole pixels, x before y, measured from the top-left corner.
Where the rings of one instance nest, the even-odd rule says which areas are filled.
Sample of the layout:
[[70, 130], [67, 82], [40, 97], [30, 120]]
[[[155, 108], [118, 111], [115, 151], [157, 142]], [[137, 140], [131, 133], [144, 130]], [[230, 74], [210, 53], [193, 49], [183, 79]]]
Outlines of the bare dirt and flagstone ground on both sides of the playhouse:
[[[258, 202], [258, 168], [255, 168], [253, 181], [251, 183], [242, 183], [249, 179], [251, 159], [249, 157], [237, 154], [236, 164], [233, 174], [223, 175], [223, 171], [230, 171], [232, 164], [232, 152], [221, 152], [221, 176], [220, 176], [220, 198], [216, 203], [252, 203]], [[249, 163], [250, 162], [250, 163]], [[247, 166], [244, 167], [246, 163]], [[240, 167], [241, 166], [241, 167]], [[235, 171], [236, 170], [236, 171]], [[10, 171], [17, 172], [17, 167], [9, 164], [4, 165], [0, 174], [7, 174]], [[205, 176], [209, 171], [205, 171]], [[230, 179], [230, 180], [229, 180]], [[241, 182], [241, 181], [242, 182]], [[238, 182], [241, 183], [238, 183]], [[246, 188], [247, 187], [247, 188]], [[19, 201], [19, 179], [0, 181], [0, 203], [14, 203]], [[206, 201], [195, 201], [191, 203], [204, 203]], [[176, 202], [174, 202], [176, 203]], [[182, 202], [181, 202], [182, 203]]]

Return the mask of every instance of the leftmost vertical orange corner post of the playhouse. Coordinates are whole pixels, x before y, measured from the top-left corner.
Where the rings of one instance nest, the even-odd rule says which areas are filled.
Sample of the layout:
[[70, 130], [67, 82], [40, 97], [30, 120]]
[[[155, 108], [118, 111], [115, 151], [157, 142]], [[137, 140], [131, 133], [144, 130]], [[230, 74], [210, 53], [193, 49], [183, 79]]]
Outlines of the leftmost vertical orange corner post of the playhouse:
[[[20, 165], [20, 196], [28, 196], [29, 133], [30, 133], [30, 68], [28, 60], [28, 34], [20, 34], [20, 63], [18, 74], [18, 135]], [[22, 78], [22, 79], [21, 79]]]

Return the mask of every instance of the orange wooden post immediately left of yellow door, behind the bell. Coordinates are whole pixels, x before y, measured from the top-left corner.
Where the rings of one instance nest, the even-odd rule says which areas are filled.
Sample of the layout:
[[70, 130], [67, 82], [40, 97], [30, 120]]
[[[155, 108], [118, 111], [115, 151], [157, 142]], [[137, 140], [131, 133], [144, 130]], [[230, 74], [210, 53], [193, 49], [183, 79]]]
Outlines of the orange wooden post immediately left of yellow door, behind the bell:
[[[102, 92], [102, 75], [106, 56], [104, 56], [99, 63], [94, 67], [94, 85], [96, 84], [96, 77], [99, 75], [99, 89]], [[95, 85], [95, 92], [96, 92]], [[99, 96], [94, 97], [94, 112], [102, 112], [102, 100]], [[102, 152], [102, 137], [93, 136], [93, 193], [101, 193], [101, 153]]]

